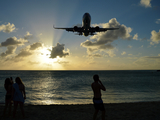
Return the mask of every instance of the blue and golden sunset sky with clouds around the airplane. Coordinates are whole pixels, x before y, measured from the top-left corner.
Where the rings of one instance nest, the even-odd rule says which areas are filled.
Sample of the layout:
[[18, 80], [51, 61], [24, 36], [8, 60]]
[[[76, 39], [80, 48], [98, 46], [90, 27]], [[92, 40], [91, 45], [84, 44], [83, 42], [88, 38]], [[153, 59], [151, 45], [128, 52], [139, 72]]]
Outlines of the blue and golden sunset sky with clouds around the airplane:
[[[94, 36], [54, 29], [118, 27]], [[160, 69], [159, 0], [1, 0], [0, 70]]]

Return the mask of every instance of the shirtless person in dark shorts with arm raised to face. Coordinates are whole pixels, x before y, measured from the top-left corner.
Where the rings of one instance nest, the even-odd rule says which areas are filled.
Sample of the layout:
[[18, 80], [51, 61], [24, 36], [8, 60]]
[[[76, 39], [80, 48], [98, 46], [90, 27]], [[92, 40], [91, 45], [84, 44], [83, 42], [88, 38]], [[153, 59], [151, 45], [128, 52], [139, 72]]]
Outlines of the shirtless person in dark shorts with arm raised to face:
[[96, 119], [99, 110], [102, 111], [102, 120], [105, 120], [105, 108], [104, 108], [103, 101], [101, 98], [102, 96], [101, 90], [106, 91], [106, 88], [104, 87], [102, 82], [99, 80], [98, 75], [94, 75], [93, 79], [94, 79], [94, 82], [91, 84], [91, 87], [94, 93], [93, 103], [94, 103], [94, 108], [95, 108], [93, 120]]

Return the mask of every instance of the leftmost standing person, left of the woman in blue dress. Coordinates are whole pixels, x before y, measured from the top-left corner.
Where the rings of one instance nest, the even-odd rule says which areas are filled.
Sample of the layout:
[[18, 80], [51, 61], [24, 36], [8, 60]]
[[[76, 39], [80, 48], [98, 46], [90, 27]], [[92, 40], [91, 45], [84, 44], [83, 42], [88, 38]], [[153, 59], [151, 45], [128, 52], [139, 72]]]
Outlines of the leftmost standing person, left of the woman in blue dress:
[[9, 78], [5, 79], [4, 88], [6, 89], [6, 95], [5, 95], [5, 108], [3, 111], [3, 116], [6, 114], [6, 110], [9, 106], [9, 115], [11, 115], [12, 110], [12, 81]]

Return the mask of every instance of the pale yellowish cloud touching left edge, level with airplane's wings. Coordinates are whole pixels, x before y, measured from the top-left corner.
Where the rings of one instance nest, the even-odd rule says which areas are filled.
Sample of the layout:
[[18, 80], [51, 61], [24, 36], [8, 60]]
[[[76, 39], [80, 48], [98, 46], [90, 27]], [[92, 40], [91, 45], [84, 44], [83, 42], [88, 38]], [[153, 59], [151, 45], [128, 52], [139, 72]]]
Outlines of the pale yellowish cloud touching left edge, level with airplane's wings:
[[8, 23], [7, 25], [0, 25], [0, 31], [3, 31], [5, 33], [13, 32], [16, 29], [14, 24]]

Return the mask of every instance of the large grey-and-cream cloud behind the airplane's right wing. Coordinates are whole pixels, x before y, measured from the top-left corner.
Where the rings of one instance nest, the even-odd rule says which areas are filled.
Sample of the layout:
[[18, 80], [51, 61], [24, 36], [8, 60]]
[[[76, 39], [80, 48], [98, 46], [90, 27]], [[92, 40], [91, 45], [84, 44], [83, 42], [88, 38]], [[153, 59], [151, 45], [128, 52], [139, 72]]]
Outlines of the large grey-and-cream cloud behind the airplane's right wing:
[[[98, 24], [97, 24], [98, 25]], [[97, 26], [94, 25], [94, 26]], [[88, 46], [101, 46], [108, 43], [113, 42], [114, 40], [118, 39], [118, 37], [122, 39], [130, 39], [131, 35], [129, 34], [132, 29], [130, 27], [126, 27], [125, 25], [120, 25], [119, 22], [116, 20], [116, 18], [113, 18], [109, 20], [108, 23], [101, 23], [99, 26], [102, 26], [103, 28], [119, 28], [118, 30], [108, 30], [107, 32], [101, 32], [97, 33], [97, 35], [94, 35], [91, 37], [91, 39], [94, 39], [95, 41], [89, 41], [86, 40], [85, 42], [81, 43], [81, 46], [88, 47]]]

